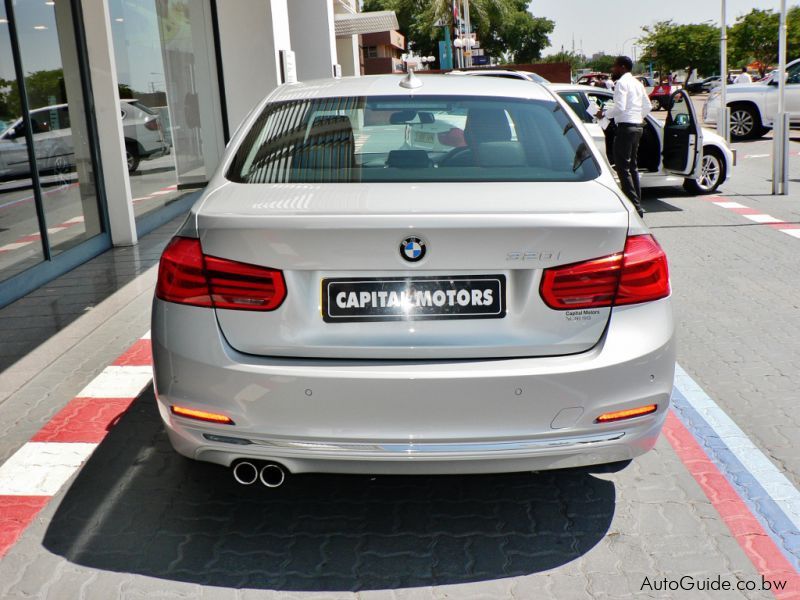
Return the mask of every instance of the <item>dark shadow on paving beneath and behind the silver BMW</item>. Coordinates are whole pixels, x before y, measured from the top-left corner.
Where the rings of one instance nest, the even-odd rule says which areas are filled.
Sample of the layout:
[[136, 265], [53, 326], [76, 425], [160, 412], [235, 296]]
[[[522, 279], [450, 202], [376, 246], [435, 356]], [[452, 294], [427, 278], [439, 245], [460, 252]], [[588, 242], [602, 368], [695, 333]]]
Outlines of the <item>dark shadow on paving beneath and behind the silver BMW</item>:
[[94, 569], [230, 588], [492, 580], [553, 569], [603, 539], [615, 489], [599, 472], [300, 475], [245, 487], [172, 450], [149, 388], [72, 483], [44, 546]]

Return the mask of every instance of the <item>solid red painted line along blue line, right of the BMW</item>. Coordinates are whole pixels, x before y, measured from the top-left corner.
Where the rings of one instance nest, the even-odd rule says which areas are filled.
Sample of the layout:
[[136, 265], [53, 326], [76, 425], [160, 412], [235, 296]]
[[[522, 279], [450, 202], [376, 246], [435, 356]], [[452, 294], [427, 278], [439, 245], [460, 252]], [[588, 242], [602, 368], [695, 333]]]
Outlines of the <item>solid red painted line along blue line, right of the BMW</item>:
[[785, 580], [786, 588], [773, 592], [781, 600], [800, 598], [800, 575], [767, 535], [761, 523], [736, 493], [725, 476], [697, 443], [688, 429], [670, 411], [664, 436], [689, 473], [700, 485], [736, 541], [759, 573], [769, 580]]

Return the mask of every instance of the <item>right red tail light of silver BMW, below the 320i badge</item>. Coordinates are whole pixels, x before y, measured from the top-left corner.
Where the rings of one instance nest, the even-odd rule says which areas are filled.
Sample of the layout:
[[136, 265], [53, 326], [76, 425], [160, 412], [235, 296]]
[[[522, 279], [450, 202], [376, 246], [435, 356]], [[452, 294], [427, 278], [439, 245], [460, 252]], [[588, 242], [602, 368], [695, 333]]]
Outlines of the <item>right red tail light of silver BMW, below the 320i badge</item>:
[[539, 293], [556, 310], [666, 298], [670, 293], [667, 257], [653, 236], [630, 236], [621, 254], [545, 269]]

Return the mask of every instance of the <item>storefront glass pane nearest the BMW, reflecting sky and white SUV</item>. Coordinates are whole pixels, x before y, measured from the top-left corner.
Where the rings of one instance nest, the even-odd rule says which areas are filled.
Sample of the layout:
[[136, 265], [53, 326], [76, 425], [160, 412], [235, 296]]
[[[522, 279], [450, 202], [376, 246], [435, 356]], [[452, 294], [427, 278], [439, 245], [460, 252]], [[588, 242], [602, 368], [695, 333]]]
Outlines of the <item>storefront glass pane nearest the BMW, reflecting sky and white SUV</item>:
[[207, 0], [109, 0], [134, 214], [208, 181], [221, 154]]

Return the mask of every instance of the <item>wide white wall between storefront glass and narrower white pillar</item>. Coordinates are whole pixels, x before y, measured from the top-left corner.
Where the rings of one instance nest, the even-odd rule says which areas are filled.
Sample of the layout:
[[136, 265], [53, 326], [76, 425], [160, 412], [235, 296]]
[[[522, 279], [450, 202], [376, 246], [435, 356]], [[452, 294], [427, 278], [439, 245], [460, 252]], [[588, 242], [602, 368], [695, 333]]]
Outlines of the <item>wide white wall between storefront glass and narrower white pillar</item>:
[[[291, 0], [291, 4], [297, 0]], [[287, 0], [220, 2], [220, 54], [231, 133], [281, 84], [281, 50], [291, 50]]]

